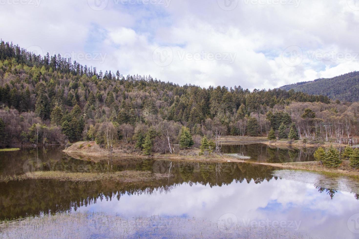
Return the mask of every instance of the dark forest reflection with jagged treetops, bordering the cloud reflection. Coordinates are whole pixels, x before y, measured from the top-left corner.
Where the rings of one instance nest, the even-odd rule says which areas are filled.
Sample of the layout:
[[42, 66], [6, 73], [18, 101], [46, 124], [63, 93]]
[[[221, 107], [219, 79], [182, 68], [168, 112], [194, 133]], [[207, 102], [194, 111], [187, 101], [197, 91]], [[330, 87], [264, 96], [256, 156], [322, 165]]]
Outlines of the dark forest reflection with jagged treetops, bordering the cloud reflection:
[[[22, 160], [20, 160], [22, 161]], [[169, 173], [171, 177], [165, 180], [147, 182], [60, 182], [56, 180], [24, 180], [0, 183], [0, 218], [17, 218], [19, 216], [39, 215], [49, 212], [65, 212], [76, 210], [80, 206], [96, 203], [98, 200], [120, 200], [122, 195], [140, 195], [156, 192], [169, 192], [182, 183], [200, 183], [202, 185], [222, 186], [233, 181], [248, 183], [252, 180], [261, 183], [269, 181], [272, 176], [271, 167], [247, 163], [189, 163], [154, 161], [151, 159], [132, 160], [126, 164], [116, 165], [115, 161], [107, 160], [101, 163], [86, 162], [76, 159], [61, 158], [58, 164], [88, 163], [101, 164], [109, 171], [148, 170], [154, 173]], [[156, 172], [157, 169], [163, 172]]]

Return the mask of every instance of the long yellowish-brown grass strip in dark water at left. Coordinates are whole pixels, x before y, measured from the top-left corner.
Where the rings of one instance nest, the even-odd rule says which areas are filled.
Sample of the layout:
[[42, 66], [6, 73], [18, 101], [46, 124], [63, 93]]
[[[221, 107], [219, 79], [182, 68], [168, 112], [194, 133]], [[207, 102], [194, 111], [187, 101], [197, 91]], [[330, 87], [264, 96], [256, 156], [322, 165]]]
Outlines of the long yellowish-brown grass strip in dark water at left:
[[112, 180], [118, 182], [153, 181], [168, 178], [167, 173], [152, 173], [149, 171], [120, 171], [109, 173], [79, 173], [61, 171], [37, 171], [24, 175], [1, 177], [0, 181], [22, 181], [27, 179], [50, 179], [57, 181], [92, 182], [101, 180]]

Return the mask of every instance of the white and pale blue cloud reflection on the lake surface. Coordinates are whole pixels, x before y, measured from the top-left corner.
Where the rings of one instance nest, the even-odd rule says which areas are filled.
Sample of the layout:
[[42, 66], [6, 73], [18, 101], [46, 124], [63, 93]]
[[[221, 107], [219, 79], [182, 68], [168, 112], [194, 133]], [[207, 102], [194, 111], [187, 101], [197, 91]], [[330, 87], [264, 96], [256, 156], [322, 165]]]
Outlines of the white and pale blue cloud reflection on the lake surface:
[[120, 201], [102, 201], [80, 210], [140, 215], [188, 215], [218, 220], [226, 213], [244, 220], [302, 221], [299, 231], [324, 238], [355, 238], [346, 220], [359, 211], [353, 194], [337, 192], [331, 200], [311, 184], [271, 180], [255, 184], [231, 183], [222, 187], [183, 183], [170, 193], [123, 195]]

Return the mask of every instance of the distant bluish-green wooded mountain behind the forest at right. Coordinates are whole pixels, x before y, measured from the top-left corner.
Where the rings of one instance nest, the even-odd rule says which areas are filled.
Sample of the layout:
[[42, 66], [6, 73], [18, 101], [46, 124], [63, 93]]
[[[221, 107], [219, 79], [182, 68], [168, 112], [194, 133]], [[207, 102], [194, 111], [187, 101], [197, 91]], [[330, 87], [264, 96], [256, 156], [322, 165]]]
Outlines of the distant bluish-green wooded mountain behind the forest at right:
[[333, 78], [298, 82], [280, 87], [281, 90], [301, 91], [310, 95], [325, 95], [334, 100], [359, 101], [359, 71]]

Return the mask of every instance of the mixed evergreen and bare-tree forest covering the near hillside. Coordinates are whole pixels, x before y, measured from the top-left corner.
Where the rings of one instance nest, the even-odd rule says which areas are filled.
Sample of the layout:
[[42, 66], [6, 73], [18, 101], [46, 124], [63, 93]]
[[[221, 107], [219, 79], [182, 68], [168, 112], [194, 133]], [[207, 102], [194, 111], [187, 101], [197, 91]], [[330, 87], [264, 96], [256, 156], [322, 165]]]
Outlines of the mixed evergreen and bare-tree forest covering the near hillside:
[[[335, 140], [358, 135], [359, 103], [294, 90], [179, 86], [152, 76], [97, 71], [60, 55], [0, 42], [0, 146], [95, 140], [171, 152], [181, 134]], [[189, 145], [193, 145], [192, 143]], [[171, 152], [172, 153], [172, 152]]]

